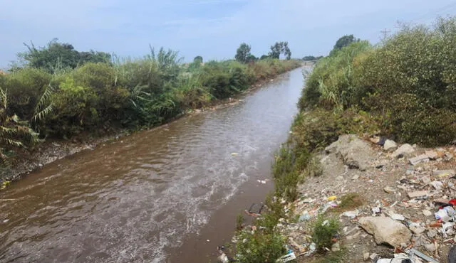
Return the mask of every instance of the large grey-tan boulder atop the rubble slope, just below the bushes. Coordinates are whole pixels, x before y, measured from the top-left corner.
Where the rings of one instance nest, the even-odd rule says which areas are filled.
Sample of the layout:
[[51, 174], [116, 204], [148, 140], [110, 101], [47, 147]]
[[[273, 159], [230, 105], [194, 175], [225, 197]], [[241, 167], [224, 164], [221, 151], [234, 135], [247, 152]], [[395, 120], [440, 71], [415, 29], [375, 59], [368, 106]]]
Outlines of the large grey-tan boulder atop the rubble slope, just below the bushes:
[[326, 147], [326, 153], [336, 153], [350, 168], [359, 168], [365, 171], [368, 161], [373, 156], [371, 146], [353, 134], [339, 136], [339, 139]]

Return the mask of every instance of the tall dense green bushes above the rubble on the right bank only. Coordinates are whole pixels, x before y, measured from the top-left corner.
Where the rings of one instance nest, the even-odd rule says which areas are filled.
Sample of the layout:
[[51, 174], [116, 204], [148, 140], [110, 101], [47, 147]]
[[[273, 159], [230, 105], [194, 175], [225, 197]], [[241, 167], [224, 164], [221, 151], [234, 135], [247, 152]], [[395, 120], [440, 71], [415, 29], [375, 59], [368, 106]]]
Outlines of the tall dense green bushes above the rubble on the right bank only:
[[364, 112], [384, 135], [425, 146], [456, 134], [456, 18], [404, 26], [378, 46], [351, 43], [318, 61], [301, 109]]

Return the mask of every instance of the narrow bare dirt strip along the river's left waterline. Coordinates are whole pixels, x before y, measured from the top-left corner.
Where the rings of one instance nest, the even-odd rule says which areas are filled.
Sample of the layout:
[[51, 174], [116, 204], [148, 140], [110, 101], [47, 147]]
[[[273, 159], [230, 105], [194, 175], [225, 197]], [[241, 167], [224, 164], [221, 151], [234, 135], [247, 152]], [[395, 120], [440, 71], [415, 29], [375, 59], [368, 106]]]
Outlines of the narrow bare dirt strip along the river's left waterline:
[[[207, 110], [216, 110], [222, 107], [229, 107], [237, 104], [240, 101], [239, 97], [243, 97], [249, 94], [249, 92], [253, 92], [254, 90], [264, 87], [264, 85], [282, 80], [284, 74], [286, 73], [280, 73], [275, 77], [271, 76], [273, 78], [266, 80], [259, 80], [258, 82], [251, 85], [249, 89], [242, 91], [242, 93], [234, 95], [234, 97], [230, 97], [224, 100], [212, 100], [209, 105], [199, 109], [187, 109], [185, 113], [167, 120], [167, 122], [162, 125], [170, 124], [170, 122], [174, 122], [176, 119], [189, 116], [190, 114], [199, 114], [200, 112]], [[147, 129], [155, 129], [155, 127]], [[66, 158], [67, 156], [71, 156], [81, 151], [93, 150], [98, 144], [105, 144], [122, 140], [123, 136], [128, 136], [132, 132], [133, 131], [129, 131], [128, 129], [117, 129], [103, 136], [94, 137], [93, 134], [88, 134], [88, 136], [78, 136], [78, 139], [73, 140], [48, 139], [38, 146], [33, 147], [31, 151], [21, 150], [18, 153], [20, 158], [12, 160], [14, 163], [11, 163], [9, 167], [1, 169], [0, 186], [6, 186], [6, 184], [18, 181], [29, 173], [37, 171], [38, 169], [43, 168], [43, 166], [49, 163], [53, 163], [59, 159]]]

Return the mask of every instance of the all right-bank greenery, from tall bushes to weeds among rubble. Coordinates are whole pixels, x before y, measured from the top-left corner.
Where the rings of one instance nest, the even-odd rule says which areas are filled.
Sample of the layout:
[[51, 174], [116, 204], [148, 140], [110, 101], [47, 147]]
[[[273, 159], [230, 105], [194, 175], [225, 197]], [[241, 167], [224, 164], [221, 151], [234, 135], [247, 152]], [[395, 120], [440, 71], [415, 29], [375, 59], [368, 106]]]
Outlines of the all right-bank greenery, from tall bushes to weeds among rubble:
[[[269, 57], [277, 58], [281, 50], [283, 46], [277, 43]], [[279, 231], [275, 226], [280, 218], [292, 220], [283, 204], [299, 197], [297, 186], [306, 176], [321, 174], [315, 156], [339, 135], [380, 132], [398, 141], [425, 146], [454, 141], [455, 57], [456, 18], [440, 18], [432, 28], [404, 26], [375, 46], [353, 35], [340, 38], [330, 55], [318, 60], [314, 70], [305, 75], [300, 112], [289, 140], [274, 161], [275, 191], [266, 202], [268, 210], [256, 222], [262, 229], [256, 235], [261, 237], [239, 242], [241, 256], [259, 247], [279, 257], [280, 243], [274, 242]], [[341, 199], [336, 213], [363, 203], [357, 193]], [[317, 218], [312, 239], [318, 251], [331, 248], [338, 231], [336, 219]], [[343, 257], [343, 251], [330, 253], [322, 262], [341, 262]], [[245, 262], [257, 261], [252, 258]]]

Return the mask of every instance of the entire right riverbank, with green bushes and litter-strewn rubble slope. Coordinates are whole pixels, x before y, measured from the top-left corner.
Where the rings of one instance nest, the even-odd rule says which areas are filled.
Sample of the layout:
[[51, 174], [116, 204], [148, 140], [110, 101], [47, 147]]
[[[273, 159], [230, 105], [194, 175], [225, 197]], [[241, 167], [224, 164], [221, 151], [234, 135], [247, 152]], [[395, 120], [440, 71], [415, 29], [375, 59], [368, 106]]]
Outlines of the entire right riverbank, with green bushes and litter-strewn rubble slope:
[[[445, 262], [455, 242], [456, 93], [445, 48], [455, 45], [455, 18], [436, 25], [318, 60], [276, 154], [266, 209], [237, 232], [242, 262], [287, 252], [303, 262]], [[392, 154], [395, 141], [403, 153]]]

